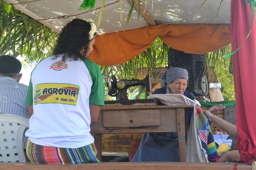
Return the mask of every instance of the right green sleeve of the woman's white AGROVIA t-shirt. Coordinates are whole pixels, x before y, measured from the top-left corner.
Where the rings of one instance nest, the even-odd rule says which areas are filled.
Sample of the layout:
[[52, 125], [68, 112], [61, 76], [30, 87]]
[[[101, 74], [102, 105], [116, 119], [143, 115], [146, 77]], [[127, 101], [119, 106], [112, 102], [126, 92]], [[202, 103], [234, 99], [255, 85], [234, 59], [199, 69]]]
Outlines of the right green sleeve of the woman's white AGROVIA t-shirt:
[[88, 68], [92, 79], [92, 92], [89, 102], [94, 105], [104, 106], [105, 88], [100, 67], [90, 60], [85, 60], [84, 64]]

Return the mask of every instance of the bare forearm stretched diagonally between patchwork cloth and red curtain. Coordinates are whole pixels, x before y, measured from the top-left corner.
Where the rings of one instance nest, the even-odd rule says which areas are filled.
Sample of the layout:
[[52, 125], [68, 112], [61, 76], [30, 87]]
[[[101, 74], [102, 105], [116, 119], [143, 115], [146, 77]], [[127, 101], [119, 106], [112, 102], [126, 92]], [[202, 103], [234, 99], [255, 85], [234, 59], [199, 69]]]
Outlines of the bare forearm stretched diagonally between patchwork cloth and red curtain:
[[236, 125], [233, 125], [221, 119], [220, 117], [213, 115], [209, 110], [203, 110], [203, 112], [210, 122], [219, 126], [221, 129], [227, 132], [228, 135], [230, 135], [231, 137], [236, 138], [236, 133], [237, 133]]

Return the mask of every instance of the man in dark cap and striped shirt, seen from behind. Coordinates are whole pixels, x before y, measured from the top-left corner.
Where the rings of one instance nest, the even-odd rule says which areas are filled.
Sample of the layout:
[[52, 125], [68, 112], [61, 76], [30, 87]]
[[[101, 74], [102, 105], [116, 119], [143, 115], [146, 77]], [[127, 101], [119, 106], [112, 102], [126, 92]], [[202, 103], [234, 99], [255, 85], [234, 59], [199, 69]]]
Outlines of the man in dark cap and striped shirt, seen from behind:
[[[28, 86], [20, 84], [21, 63], [10, 55], [0, 56], [0, 114], [18, 115], [29, 119], [28, 105], [25, 103]], [[23, 136], [26, 153], [28, 138]], [[25, 154], [26, 155], [26, 154]]]

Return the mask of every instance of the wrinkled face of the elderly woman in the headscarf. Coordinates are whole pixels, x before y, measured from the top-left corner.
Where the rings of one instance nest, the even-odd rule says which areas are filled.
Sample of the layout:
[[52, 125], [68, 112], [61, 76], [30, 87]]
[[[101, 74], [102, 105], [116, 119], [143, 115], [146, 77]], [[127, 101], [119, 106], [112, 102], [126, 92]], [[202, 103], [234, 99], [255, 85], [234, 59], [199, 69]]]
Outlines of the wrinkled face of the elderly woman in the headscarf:
[[187, 80], [185, 78], [178, 78], [168, 85], [170, 94], [183, 94], [187, 88]]

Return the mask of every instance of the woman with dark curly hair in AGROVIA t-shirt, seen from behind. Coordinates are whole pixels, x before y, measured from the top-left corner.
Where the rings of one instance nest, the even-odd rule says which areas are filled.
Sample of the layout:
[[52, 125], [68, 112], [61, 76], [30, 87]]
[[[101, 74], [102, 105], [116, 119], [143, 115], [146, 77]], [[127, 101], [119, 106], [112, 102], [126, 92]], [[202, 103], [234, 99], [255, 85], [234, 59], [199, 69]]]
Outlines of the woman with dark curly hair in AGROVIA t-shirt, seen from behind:
[[53, 56], [31, 73], [27, 155], [33, 164], [99, 162], [90, 125], [104, 105], [99, 66], [88, 60], [96, 25], [73, 19], [62, 29]]

